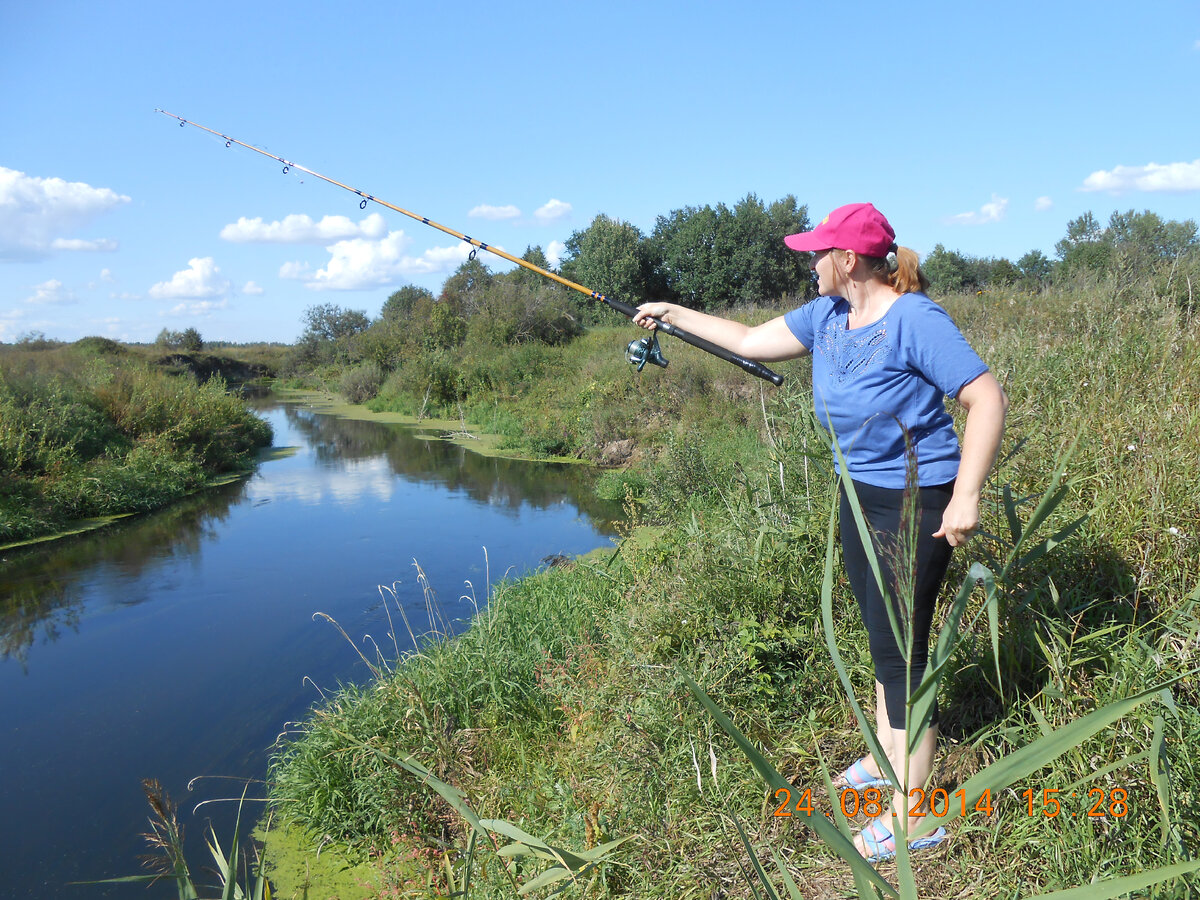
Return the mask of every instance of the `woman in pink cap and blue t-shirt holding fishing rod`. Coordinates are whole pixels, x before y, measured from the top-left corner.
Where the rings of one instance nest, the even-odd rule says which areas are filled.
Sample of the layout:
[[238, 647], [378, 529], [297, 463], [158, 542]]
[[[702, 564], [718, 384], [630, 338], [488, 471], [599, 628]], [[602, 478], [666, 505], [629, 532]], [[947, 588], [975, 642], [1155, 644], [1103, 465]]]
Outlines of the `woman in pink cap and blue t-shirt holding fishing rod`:
[[[859, 791], [893, 787], [890, 808], [854, 841], [864, 857], [877, 862], [895, 854], [894, 817], [906, 815], [908, 790], [925, 787], [932, 772], [936, 703], [930, 726], [906, 760], [906, 698], [925, 671], [934, 606], [950, 552], [979, 527], [979, 494], [996, 460], [1008, 400], [950, 317], [925, 295], [929, 280], [916, 252], [896, 246], [895, 232], [875, 206], [840, 206], [811, 232], [788, 235], [784, 242], [811, 253], [810, 268], [817, 276], [818, 296], [798, 310], [749, 326], [676, 304], [650, 302], [638, 307], [634, 322], [653, 330], [654, 319], [661, 319], [763, 362], [812, 354], [817, 416], [846, 461], [888, 587], [884, 596], [842, 490], [842, 557], [875, 665], [880, 744], [893, 772], [906, 780], [893, 787], [871, 756], [839, 776], [842, 786]], [[946, 396], [966, 409], [961, 451]], [[911, 684], [884, 606], [889, 604], [899, 617], [889, 563], [899, 542], [906, 446], [916, 454], [919, 485]], [[919, 822], [910, 817], [908, 828]], [[944, 838], [938, 828], [910, 846], [930, 847]]]

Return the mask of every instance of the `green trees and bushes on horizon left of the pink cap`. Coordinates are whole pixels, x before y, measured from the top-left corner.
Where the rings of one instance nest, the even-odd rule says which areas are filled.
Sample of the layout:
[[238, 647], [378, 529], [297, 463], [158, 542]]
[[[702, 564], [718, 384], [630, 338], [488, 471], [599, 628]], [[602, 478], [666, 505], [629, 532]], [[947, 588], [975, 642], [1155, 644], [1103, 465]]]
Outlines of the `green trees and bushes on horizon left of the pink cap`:
[[[704, 310], [800, 301], [812, 293], [808, 262], [782, 239], [806, 228], [808, 210], [793, 196], [769, 204], [748, 194], [732, 208], [686, 206], [659, 216], [650, 234], [599, 215], [568, 239], [557, 272], [635, 306], [652, 299]], [[522, 258], [553, 270], [540, 246]], [[612, 319], [602, 304], [536, 272], [520, 266], [493, 272], [472, 258], [438, 294], [416, 286], [396, 290], [374, 319], [334, 304], [308, 307], [288, 368], [340, 372], [342, 392], [359, 402], [388, 380], [390, 394], [446, 406], [496, 380], [482, 364], [494, 348], [560, 344]]]

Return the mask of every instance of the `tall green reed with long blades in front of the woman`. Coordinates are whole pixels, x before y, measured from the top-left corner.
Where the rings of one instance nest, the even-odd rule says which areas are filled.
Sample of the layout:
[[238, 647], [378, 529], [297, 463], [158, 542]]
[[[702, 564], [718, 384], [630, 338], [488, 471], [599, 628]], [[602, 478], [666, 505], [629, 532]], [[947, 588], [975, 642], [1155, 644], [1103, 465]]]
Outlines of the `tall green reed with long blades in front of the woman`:
[[[836, 446], [836, 445], [835, 445]], [[871, 563], [872, 572], [878, 580], [881, 589], [888, 590], [889, 586], [883, 583], [883, 576], [881, 575], [878, 558], [875, 554], [872, 546], [872, 538], [870, 528], [863, 517], [862, 506], [858, 503], [858, 498], [854, 493], [853, 481], [846, 475], [847, 467], [845, 466], [845, 460], [841, 460], [839, 452], [839, 460], [841, 461], [841, 470], [844, 473], [841, 478], [842, 490], [847, 492], [851, 499], [851, 506], [854, 512], [853, 527], [858, 529], [863, 546], [868, 550], [869, 559]], [[991, 623], [992, 644], [994, 653], [996, 654], [997, 673], [998, 673], [998, 620], [1001, 618], [1000, 605], [1003, 596], [1003, 587], [1014, 583], [1020, 575], [1024, 566], [1030, 563], [1040, 559], [1045, 556], [1052, 547], [1061, 544], [1063, 540], [1074, 534], [1084, 520], [1076, 520], [1068, 526], [1056, 530], [1052, 534], [1046, 535], [1038, 540], [1039, 528], [1045, 523], [1045, 521], [1051, 516], [1055, 509], [1061, 504], [1063, 498], [1062, 491], [1062, 476], [1070, 460], [1070, 452], [1063, 458], [1054, 476], [1051, 479], [1050, 486], [1046, 488], [1045, 493], [1042, 496], [1039, 503], [1033, 509], [1028, 520], [1022, 522], [1018, 515], [1016, 504], [1012, 500], [1012, 493], [1006, 487], [1003, 491], [1004, 497], [1004, 511], [1009, 526], [1012, 528], [1012, 544], [1008, 548], [1008, 553], [1004, 557], [1003, 565], [998, 571], [991, 571], [986, 566], [976, 563], [971, 566], [971, 571], [964, 580], [954, 602], [946, 617], [946, 623], [937, 636], [936, 646], [930, 653], [929, 662], [923, 679], [919, 686], [911, 691], [907, 697], [906, 710], [905, 710], [905, 732], [910, 738], [910, 745], [904, 754], [907, 760], [908, 754], [914, 752], [917, 744], [920, 740], [920, 736], [928, 727], [930, 721], [930, 715], [932, 712], [934, 698], [936, 696], [938, 685], [947, 671], [947, 666], [954, 658], [955, 653], [962, 644], [964, 631], [960, 629], [962, 618], [967, 612], [971, 596], [974, 593], [977, 584], [982, 584], [984, 588], [984, 599], [979, 610], [976, 612], [976, 617], [988, 614], [989, 622]], [[910, 517], [910, 523], [916, 515], [916, 510], [907, 509], [906, 515]], [[827, 635], [827, 647], [829, 654], [834, 661], [834, 666], [838, 670], [838, 676], [841, 680], [842, 688], [850, 701], [851, 707], [854, 712], [854, 718], [858, 721], [858, 727], [868, 749], [871, 755], [880, 762], [884, 775], [893, 784], [911, 784], [907, 770], [898, 773], [892, 762], [888, 760], [882, 745], [880, 744], [878, 734], [871, 726], [868, 716], [865, 715], [863, 708], [859, 706], [858, 700], [854, 696], [854, 686], [852, 679], [847, 672], [846, 665], [842, 660], [841, 653], [838, 649], [838, 643], [834, 640], [834, 622], [833, 622], [833, 593], [834, 593], [834, 557], [835, 557], [835, 527], [836, 527], [836, 506], [830, 509], [829, 514], [829, 526], [827, 534], [827, 550], [826, 550], [826, 568], [824, 577], [822, 581], [821, 592], [821, 608], [822, 608], [822, 622], [824, 631]], [[842, 527], [852, 527], [848, 522], [842, 522]], [[904, 530], [904, 524], [901, 524], [901, 532]], [[1034, 544], [1034, 541], [1037, 541]], [[914, 552], [913, 548], [907, 548], [907, 552]], [[901, 556], [905, 553], [905, 548], [901, 545]], [[902, 570], [906, 568], [905, 560], [899, 559], [900, 563], [898, 569]], [[907, 564], [911, 566], [911, 563]], [[906, 582], [904, 578], [898, 578], [894, 584], [894, 590], [896, 595], [896, 602], [900, 610], [911, 608], [912, 606], [912, 583]], [[1198, 588], [1200, 592], [1200, 588]], [[892, 619], [892, 626], [896, 631], [900, 638], [900, 646], [905, 652], [905, 658], [910, 660], [911, 665], [911, 653], [912, 653], [912, 624], [907, 616], [895, 616], [889, 607], [889, 618]], [[968, 625], [967, 631], [971, 630]], [[932, 785], [925, 784], [912, 788], [908, 792], [908, 799], [912, 802], [912, 809], [919, 809], [922, 804], [926, 804], [926, 812], [923, 814], [925, 821], [918, 826], [914, 830], [910, 832], [908, 828], [908, 815], [905, 811], [893, 811], [892, 828], [895, 834], [895, 858], [896, 858], [896, 878], [899, 884], [893, 886], [890, 882], [882, 880], [878, 872], [868, 864], [863, 856], [851, 842], [850, 824], [846, 816], [842, 812], [842, 804], [834, 804], [833, 809], [836, 814], [836, 824], [827, 818], [818, 811], [812, 810], [811, 799], [809, 802], [808, 809], [799, 803], [799, 798], [805, 796], [803, 788], [796, 785], [782, 775], [770, 764], [766, 756], [755, 746], [755, 744], [745, 738], [745, 736], [734, 726], [730, 719], [718, 708], [718, 706], [708, 697], [708, 695], [700, 688], [696, 682], [691, 679], [690, 676], [684, 674], [684, 679], [688, 682], [689, 688], [696, 698], [709, 710], [720, 727], [734, 740], [738, 748], [745, 754], [755, 769], [764, 779], [768, 788], [774, 792], [776, 799], [782, 794], [785, 797], [784, 803], [778, 808], [776, 814], [782, 814], [785, 816], [803, 816], [806, 823], [824, 840], [829, 847], [840, 856], [846, 864], [850, 866], [853, 875], [856, 889], [859, 898], [877, 898], [881, 895], [898, 896], [908, 900], [910, 898], [918, 896], [917, 878], [913, 871], [912, 857], [908, 851], [910, 840], [918, 839], [923, 835], [931, 833], [932, 830], [954, 822], [958, 818], [965, 818], [970, 812], [974, 814], [986, 814], [989, 817], [992, 816], [992, 798], [1000, 798], [1002, 792], [1007, 788], [1022, 782], [1024, 779], [1033, 775], [1039, 770], [1044, 770], [1048, 766], [1054, 763], [1060, 757], [1078, 751], [1082, 748], [1093, 736], [1098, 734], [1100, 731], [1109, 728], [1121, 718], [1132, 713], [1141, 703], [1157, 698], [1160, 700], [1168, 709], [1174, 708], [1174, 700], [1171, 697], [1170, 689], [1182, 682], [1186, 678], [1194, 676], [1200, 670], [1192, 670], [1189, 672], [1176, 674], [1172, 678], [1166, 678], [1157, 684], [1141, 690], [1136, 694], [1132, 694], [1123, 697], [1116, 702], [1111, 702], [1106, 706], [1096, 709], [1094, 712], [1076, 719], [1062, 727], [1049, 730], [1043, 737], [1033, 740], [1032, 743], [1021, 746], [1020, 749], [1010, 752], [979, 772], [977, 772], [972, 778], [967, 779], [961, 787], [954, 792], [953, 797], [958, 798], [958, 803], [952, 802], [950, 796], [947, 793], [944, 806], [941, 812], [937, 812], [937, 806], [932, 800], [926, 800], [926, 798], [932, 796]], [[1076, 792], [1073, 788], [1082, 788], [1085, 785], [1091, 784], [1106, 784], [1104, 778], [1110, 775], [1112, 772], [1120, 770], [1121, 768], [1141, 762], [1144, 760], [1150, 762], [1150, 779], [1152, 780], [1159, 804], [1162, 806], [1160, 828], [1164, 838], [1168, 838], [1174, 832], [1177, 832], [1180, 822], [1180, 811], [1169, 802], [1171, 797], [1172, 785], [1170, 782], [1169, 775], [1157, 764], [1157, 761], [1162, 755], [1162, 738], [1163, 738], [1163, 721], [1162, 719], [1156, 719], [1154, 737], [1150, 745], [1142, 748], [1136, 754], [1129, 754], [1110, 766], [1093, 773], [1091, 776], [1085, 776], [1078, 781], [1072, 782], [1064, 787], [1056, 788], [1043, 788], [1040, 797], [1038, 799], [1039, 811], [1054, 810], [1055, 815], [1061, 811], [1062, 803], [1064, 800], [1058, 799], [1060, 792], [1066, 798], [1067, 792], [1072, 791], [1070, 797], [1074, 798]], [[833, 775], [829, 768], [822, 760], [820, 763], [820, 774], [824, 782], [828, 794], [832, 797], [834, 794], [833, 788]], [[946, 793], [943, 791], [943, 793]], [[1088, 797], [1093, 798], [1098, 794], [1103, 800], [1105, 797], [1111, 796], [1114, 799], [1108, 804], [1108, 811], [1114, 818], [1120, 818], [1126, 815], [1124, 811], [1118, 812], [1117, 810], [1126, 810], [1128, 808], [1128, 793], [1124, 788], [1114, 788], [1111, 794], [1104, 788], [1091, 788], [1088, 790]], [[1117, 799], [1120, 798], [1120, 799]], [[857, 805], [857, 804], [856, 804]], [[1034, 798], [1031, 794], [1030, 806], [1031, 810], [1034, 805]], [[1092, 804], [1096, 808], [1096, 804]], [[1032, 812], [1031, 812], [1032, 815]], [[1074, 812], [1072, 814], [1074, 815]], [[769, 898], [778, 898], [779, 893], [774, 887], [773, 880], [767, 875], [766, 870], [761, 864], [758, 864], [757, 856], [754, 848], [750, 846], [750, 841], [746, 839], [745, 833], [738, 826], [739, 835], [746, 847], [746, 851], [751, 854], [755, 860], [754, 866], [754, 878], [748, 876], [748, 883], [751, 890], [761, 888], [763, 893]], [[1168, 856], [1175, 856], [1171, 845], [1168, 840], [1164, 840], [1169, 852]], [[1056, 896], [1056, 898], [1068, 898], [1068, 896], [1087, 896], [1087, 898], [1116, 898], [1123, 896], [1130, 892], [1140, 890], [1142, 888], [1157, 884], [1159, 882], [1176, 880], [1181, 876], [1189, 875], [1190, 872], [1200, 869], [1200, 862], [1190, 858], [1190, 854], [1182, 846], [1176, 844], [1174, 851], [1177, 851], [1178, 857], [1182, 857], [1180, 862], [1172, 865], [1159, 866], [1144, 872], [1138, 872], [1133, 875], [1127, 875], [1123, 877], [1109, 878], [1103, 882], [1092, 882], [1087, 887], [1080, 887], [1079, 889], [1068, 890], [1056, 890], [1046, 894], [1039, 894], [1039, 896]], [[802, 898], [803, 894], [797, 888], [794, 881], [787, 874], [785, 866], [779, 863], [776, 857], [776, 864], [780, 865], [781, 876], [784, 883], [787, 888], [788, 896]]]

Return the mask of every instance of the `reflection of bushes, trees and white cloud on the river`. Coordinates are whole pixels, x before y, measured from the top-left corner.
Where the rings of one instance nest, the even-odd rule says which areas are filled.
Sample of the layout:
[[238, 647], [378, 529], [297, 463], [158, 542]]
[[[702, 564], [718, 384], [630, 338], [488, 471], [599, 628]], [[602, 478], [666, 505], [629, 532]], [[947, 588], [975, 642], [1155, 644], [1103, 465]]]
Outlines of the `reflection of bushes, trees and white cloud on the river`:
[[139, 584], [145, 568], [198, 553], [205, 540], [216, 538], [230, 508], [247, 499], [258, 505], [292, 499], [307, 506], [332, 500], [343, 508], [368, 497], [388, 503], [398, 475], [462, 491], [470, 500], [514, 516], [523, 506], [545, 510], [568, 500], [601, 533], [612, 533], [614, 505], [595, 497], [590, 476], [580, 467], [486, 457], [407, 428], [319, 415], [292, 404], [264, 409], [282, 409], [290, 431], [302, 437], [322, 467], [281, 469], [269, 479], [212, 488], [98, 532], [10, 551], [0, 557], [0, 659], [25, 666], [35, 642], [55, 641], [62, 629], [77, 628], [79, 582], [90, 577], [92, 565], [102, 564], [122, 578], [115, 602], [150, 599]]

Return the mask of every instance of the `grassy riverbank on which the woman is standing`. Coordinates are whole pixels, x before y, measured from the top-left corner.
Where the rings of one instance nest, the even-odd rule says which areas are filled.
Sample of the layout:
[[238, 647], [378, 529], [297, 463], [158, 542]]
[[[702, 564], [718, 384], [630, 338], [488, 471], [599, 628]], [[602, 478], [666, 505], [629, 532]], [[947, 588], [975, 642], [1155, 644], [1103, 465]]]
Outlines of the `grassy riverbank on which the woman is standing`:
[[[1013, 407], [988, 493], [991, 536], [958, 554], [950, 576], [961, 582], [973, 563], [1003, 571], [998, 628], [986, 616], [966, 628], [942, 682], [937, 785], [953, 796], [1046, 730], [1182, 680], [1163, 695], [1168, 704], [1130, 710], [1030, 772], [994, 809], [948, 823], [948, 845], [914, 856], [920, 896], [1025, 895], [1194, 858], [1200, 769], [1188, 736], [1200, 728], [1200, 690], [1188, 673], [1200, 642], [1200, 508], [1186, 473], [1200, 458], [1200, 412], [1183, 398], [1200, 395], [1196, 322], [1152, 295], [1130, 302], [1104, 287], [946, 306]], [[584, 433], [556, 418], [575, 414], [581, 396], [589, 424], [629, 424], [620, 433], [638, 436], [643, 452], [608, 485], [630, 498], [630, 528], [661, 526], [656, 540], [504, 586], [466, 634], [330, 698], [278, 748], [278, 810], [311, 834], [377, 853], [380, 883], [383, 848], [401, 836], [455, 848], [439, 854], [450, 868], [428, 876], [440, 890], [470, 868], [473, 896], [512, 895], [504, 864], [488, 856], [481, 866], [481, 845], [466, 853], [466, 803], [572, 851], [630, 838], [587, 874], [594, 895], [749, 896], [748, 847], [763, 860], [778, 852], [776, 884], [786, 866], [804, 895], [840, 894], [850, 869], [811, 828], [772, 815], [778, 803], [760, 774], [680, 674], [829, 811], [822, 769], [840, 770], [864, 748], [850, 701], [832, 688], [840, 673], [827, 642], [859, 696], [870, 673], [841, 583], [832, 586], [833, 631], [818, 624], [833, 485], [803, 364], [778, 391], [685, 350], [666, 372], [593, 382], [586, 373], [610, 364], [584, 352], [592, 346], [572, 346], [575, 361], [556, 362], [551, 382], [523, 396], [575, 395], [560, 408], [536, 404], [545, 433]], [[1044, 556], [1018, 553], [1022, 523], [1076, 438], [1057, 506], [1022, 546], [1080, 516], [1086, 523], [1044, 544]], [[409, 760], [452, 785], [458, 805], [422, 786], [401, 764]], [[1052, 817], [1043, 788], [1109, 799], [1121, 790], [1128, 805]], [[1020, 797], [1028, 790], [1038, 815]], [[895, 877], [890, 864], [881, 870]], [[518, 881], [536, 871], [512, 869]]]

